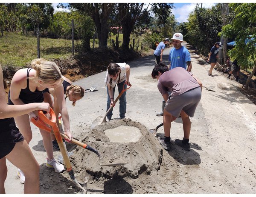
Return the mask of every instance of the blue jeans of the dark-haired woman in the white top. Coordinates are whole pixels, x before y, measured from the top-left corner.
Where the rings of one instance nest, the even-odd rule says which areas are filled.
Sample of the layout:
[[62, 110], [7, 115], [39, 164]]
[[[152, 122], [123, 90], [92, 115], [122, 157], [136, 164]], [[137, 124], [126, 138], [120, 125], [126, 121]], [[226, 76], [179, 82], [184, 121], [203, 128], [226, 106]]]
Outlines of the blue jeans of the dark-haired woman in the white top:
[[[120, 94], [120, 92], [123, 90], [123, 85], [125, 83], [125, 80], [121, 83], [118, 83], [117, 84], [117, 87], [118, 87], [118, 92]], [[125, 84], [125, 89], [127, 88], [127, 85]], [[115, 89], [116, 89], [116, 86], [113, 88], [113, 97], [114, 97], [114, 94], [115, 94]], [[107, 93], [108, 93], [108, 87], [107, 87]], [[125, 113], [126, 113], [126, 91], [122, 94], [122, 96], [119, 98], [119, 115], [120, 115], [120, 118], [125, 118]], [[109, 94], [108, 94], [108, 100], [107, 100], [107, 111], [108, 109], [110, 108], [110, 103], [111, 103], [111, 100], [110, 100], [110, 97], [109, 97]], [[111, 111], [107, 114], [107, 117], [108, 119], [110, 120], [112, 115], [113, 115], [113, 108], [111, 109]]]

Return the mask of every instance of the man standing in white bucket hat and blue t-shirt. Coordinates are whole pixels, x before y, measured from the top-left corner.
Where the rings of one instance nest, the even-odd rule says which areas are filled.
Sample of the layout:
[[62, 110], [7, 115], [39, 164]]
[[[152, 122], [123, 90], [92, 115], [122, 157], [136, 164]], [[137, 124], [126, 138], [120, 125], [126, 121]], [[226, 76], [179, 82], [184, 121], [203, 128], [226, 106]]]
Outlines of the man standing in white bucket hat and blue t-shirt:
[[[176, 67], [183, 67], [184, 69], [187, 68], [187, 71], [191, 71], [192, 69], [192, 63], [190, 59], [190, 53], [188, 49], [186, 49], [184, 46], [181, 46], [181, 43], [183, 42], [183, 35], [181, 33], [175, 33], [172, 37], [172, 44], [173, 49], [171, 49], [169, 54], [169, 61], [171, 62], [169, 64], [169, 69], [174, 69]], [[162, 111], [157, 113], [157, 116], [163, 116], [163, 109], [166, 102], [163, 101], [162, 103]]]

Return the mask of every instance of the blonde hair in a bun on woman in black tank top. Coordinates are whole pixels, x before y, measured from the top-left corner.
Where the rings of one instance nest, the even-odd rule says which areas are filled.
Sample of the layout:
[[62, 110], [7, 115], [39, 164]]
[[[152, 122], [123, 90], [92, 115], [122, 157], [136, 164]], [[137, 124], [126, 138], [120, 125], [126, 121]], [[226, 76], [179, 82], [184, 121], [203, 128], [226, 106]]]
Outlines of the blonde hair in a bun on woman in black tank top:
[[46, 84], [55, 83], [60, 79], [61, 82], [63, 81], [61, 71], [54, 62], [47, 61], [44, 58], [38, 58], [32, 60], [31, 66], [36, 70], [35, 77], [29, 77], [31, 79], [41, 80]]

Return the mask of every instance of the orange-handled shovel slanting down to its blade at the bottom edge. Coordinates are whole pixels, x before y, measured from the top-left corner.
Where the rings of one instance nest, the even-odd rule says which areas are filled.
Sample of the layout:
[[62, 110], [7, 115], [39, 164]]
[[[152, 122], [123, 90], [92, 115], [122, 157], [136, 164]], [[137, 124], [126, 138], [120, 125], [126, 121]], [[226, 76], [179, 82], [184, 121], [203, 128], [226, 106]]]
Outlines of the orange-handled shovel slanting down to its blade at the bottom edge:
[[[50, 109], [49, 114], [51, 116], [50, 117], [51, 119], [48, 119], [44, 115], [43, 111], [38, 110], [38, 116], [39, 116], [38, 120], [35, 120], [35, 118], [32, 118], [31, 121], [32, 121], [32, 123], [35, 124], [35, 126], [38, 126], [39, 128], [42, 128], [46, 131], [51, 132], [53, 130], [53, 132], [55, 134], [55, 137], [56, 137], [56, 140], [57, 140], [57, 143], [58, 143], [58, 146], [61, 150], [61, 154], [62, 154], [62, 157], [64, 159], [64, 163], [66, 165], [67, 172], [70, 175], [71, 180], [73, 181], [73, 183], [76, 184], [76, 186], [78, 186], [79, 188], [82, 189], [84, 194], [87, 194], [87, 178], [85, 178], [86, 181], [84, 183], [79, 183], [76, 180], [73, 169], [72, 169], [72, 166], [71, 166], [71, 163], [70, 163], [70, 160], [69, 160], [68, 155], [67, 155], [66, 148], [65, 148], [65, 146], [63, 144], [63, 141], [62, 141], [61, 133], [59, 132], [58, 125], [56, 123], [56, 117], [55, 117], [55, 114], [54, 114], [54, 111], [52, 110], [52, 108]], [[49, 128], [46, 124], [52, 126], [52, 129]], [[65, 136], [65, 138], [68, 138], [68, 137]]]

